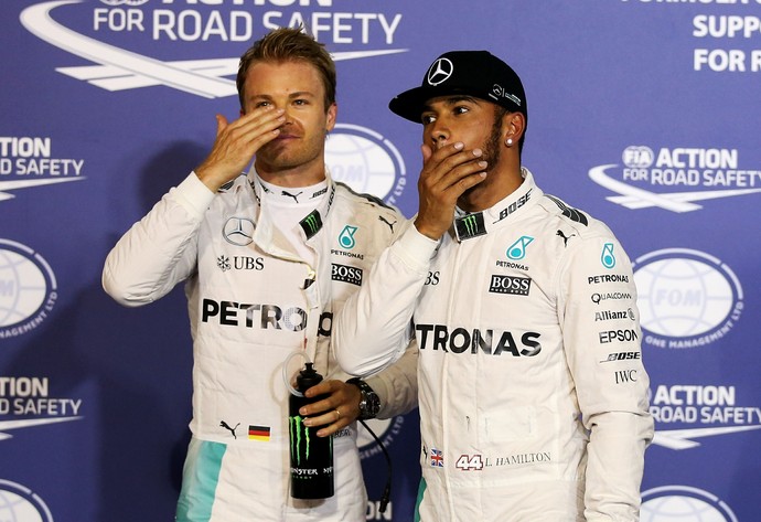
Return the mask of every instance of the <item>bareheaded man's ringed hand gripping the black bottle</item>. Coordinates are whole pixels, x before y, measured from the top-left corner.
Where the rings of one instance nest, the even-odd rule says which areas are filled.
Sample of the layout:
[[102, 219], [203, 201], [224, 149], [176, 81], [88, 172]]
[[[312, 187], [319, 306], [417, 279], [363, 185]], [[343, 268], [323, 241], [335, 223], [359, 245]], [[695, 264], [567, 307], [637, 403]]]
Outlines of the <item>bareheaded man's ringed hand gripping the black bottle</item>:
[[304, 425], [321, 428], [319, 437], [328, 437], [352, 424], [360, 415], [360, 390], [342, 381], [323, 381], [304, 394], [308, 397], [322, 396], [299, 409]]

